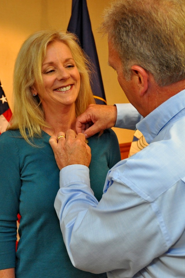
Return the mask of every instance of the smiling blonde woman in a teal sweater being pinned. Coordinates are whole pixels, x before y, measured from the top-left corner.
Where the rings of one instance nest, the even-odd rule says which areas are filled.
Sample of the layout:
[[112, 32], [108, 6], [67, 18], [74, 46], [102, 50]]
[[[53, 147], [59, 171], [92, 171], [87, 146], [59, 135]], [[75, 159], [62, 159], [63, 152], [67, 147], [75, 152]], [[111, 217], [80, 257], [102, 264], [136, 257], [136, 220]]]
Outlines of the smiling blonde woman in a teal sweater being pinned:
[[[75, 131], [76, 117], [95, 103], [89, 75], [88, 59], [73, 34], [40, 31], [21, 47], [14, 69], [14, 112], [0, 136], [0, 277], [107, 277], [73, 267], [54, 209], [59, 169], [49, 138]], [[107, 171], [121, 159], [119, 144], [108, 129], [89, 138], [88, 145], [91, 187], [100, 200]]]

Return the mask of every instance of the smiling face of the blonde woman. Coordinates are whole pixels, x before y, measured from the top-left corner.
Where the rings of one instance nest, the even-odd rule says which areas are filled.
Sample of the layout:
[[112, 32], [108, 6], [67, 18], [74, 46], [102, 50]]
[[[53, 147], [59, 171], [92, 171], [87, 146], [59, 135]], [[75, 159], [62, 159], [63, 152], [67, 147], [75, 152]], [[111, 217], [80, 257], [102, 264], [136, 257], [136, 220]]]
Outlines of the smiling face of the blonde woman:
[[[80, 75], [69, 47], [60, 41], [47, 46], [42, 63], [42, 106], [74, 105], [80, 88]], [[38, 93], [38, 96], [39, 93]]]

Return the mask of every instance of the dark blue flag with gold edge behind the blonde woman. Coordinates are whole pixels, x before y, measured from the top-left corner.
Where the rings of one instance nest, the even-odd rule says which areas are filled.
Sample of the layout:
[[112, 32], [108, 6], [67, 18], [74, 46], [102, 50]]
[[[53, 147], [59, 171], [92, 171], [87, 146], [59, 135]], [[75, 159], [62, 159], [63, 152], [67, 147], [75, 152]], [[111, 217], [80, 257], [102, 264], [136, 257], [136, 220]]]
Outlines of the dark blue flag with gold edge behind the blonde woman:
[[67, 30], [78, 36], [82, 49], [94, 65], [91, 89], [96, 103], [107, 104], [86, 0], [72, 1], [72, 14]]

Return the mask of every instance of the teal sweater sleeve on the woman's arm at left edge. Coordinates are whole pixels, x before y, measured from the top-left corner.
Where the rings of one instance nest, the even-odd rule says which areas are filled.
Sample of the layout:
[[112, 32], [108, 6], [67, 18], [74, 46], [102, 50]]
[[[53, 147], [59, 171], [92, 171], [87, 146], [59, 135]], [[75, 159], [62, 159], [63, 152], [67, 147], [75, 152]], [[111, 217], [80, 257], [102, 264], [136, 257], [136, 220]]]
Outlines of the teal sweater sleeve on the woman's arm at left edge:
[[21, 188], [18, 149], [10, 131], [0, 136], [0, 153], [0, 269], [5, 269], [15, 267]]

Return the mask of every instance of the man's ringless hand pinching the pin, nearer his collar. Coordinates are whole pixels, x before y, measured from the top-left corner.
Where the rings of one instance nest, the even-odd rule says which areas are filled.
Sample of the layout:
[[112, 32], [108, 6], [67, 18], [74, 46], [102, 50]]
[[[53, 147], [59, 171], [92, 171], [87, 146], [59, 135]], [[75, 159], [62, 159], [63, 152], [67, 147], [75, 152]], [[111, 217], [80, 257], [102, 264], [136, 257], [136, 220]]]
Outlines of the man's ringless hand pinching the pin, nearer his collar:
[[115, 105], [90, 104], [87, 110], [76, 121], [77, 133], [82, 132], [86, 138], [107, 128], [114, 127], [117, 119]]

